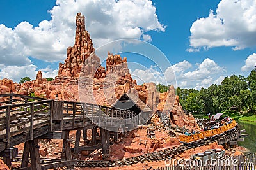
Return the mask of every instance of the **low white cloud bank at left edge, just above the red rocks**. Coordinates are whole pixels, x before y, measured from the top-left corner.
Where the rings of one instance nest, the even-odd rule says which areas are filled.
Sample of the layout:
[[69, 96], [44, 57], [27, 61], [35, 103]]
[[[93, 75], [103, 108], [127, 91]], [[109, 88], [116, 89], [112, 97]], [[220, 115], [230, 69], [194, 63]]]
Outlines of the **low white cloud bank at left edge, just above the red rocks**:
[[[37, 66], [29, 64], [28, 66], [4, 66], [0, 64], [0, 79], [9, 78], [15, 82], [19, 82], [21, 78], [28, 76], [29, 78], [35, 80]], [[58, 70], [51, 69], [49, 66], [45, 69], [40, 69], [42, 71], [43, 77], [52, 77], [54, 78], [58, 74]]]

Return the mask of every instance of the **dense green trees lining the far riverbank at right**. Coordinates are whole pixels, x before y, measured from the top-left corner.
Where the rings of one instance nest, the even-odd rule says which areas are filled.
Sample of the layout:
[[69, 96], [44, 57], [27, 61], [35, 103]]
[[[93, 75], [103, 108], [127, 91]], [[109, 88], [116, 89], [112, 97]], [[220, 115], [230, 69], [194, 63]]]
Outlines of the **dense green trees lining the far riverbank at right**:
[[[176, 89], [183, 108], [191, 113], [252, 113], [256, 114], [256, 68], [247, 78], [232, 75], [224, 78], [221, 85], [211, 85], [199, 91]], [[230, 110], [236, 106], [237, 110]]]

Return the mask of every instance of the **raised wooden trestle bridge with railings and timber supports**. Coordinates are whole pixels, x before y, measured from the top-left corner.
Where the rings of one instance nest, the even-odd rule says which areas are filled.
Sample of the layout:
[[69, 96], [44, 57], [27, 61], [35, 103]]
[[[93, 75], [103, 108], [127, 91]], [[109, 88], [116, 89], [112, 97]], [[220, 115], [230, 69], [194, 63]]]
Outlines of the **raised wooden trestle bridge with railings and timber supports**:
[[[97, 128], [100, 129], [102, 153], [106, 154], [110, 130], [117, 140], [118, 129], [136, 126], [143, 117], [131, 110], [100, 106], [90, 103], [72, 101], [45, 100], [38, 97], [19, 94], [0, 94], [0, 157], [10, 167], [13, 158], [17, 157], [17, 148], [24, 144], [22, 168], [28, 166], [30, 153], [31, 169], [50, 169], [69, 166], [76, 163], [72, 160], [69, 132], [76, 130], [74, 155], [78, 155], [81, 131], [83, 138], [87, 130], [92, 129], [92, 143], [96, 145]], [[106, 130], [108, 129], [108, 130]], [[65, 161], [52, 164], [40, 163], [38, 139], [63, 139]]]

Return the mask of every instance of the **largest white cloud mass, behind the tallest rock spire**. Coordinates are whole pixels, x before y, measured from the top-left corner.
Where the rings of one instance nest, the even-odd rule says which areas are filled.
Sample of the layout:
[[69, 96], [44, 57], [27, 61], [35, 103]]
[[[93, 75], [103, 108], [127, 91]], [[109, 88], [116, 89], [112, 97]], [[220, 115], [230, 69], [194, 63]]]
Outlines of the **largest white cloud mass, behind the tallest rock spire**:
[[[86, 29], [95, 47], [122, 38], [151, 41], [145, 32], [165, 30], [149, 0], [57, 0], [49, 10], [52, 19], [43, 20], [38, 26], [29, 22], [21, 22], [14, 29], [1, 25], [0, 53], [48, 62], [64, 60], [67, 47], [74, 44], [75, 17], [79, 12], [86, 17]], [[14, 48], [17, 50], [13, 52]]]

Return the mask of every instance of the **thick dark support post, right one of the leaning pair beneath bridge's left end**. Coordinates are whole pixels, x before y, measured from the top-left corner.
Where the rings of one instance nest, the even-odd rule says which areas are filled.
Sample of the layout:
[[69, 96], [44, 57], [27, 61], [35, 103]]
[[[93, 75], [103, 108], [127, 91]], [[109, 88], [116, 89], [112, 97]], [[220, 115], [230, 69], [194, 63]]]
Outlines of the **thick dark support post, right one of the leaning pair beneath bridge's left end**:
[[41, 164], [40, 164], [38, 139], [33, 139], [29, 141], [29, 150], [30, 150], [31, 169], [40, 170]]

